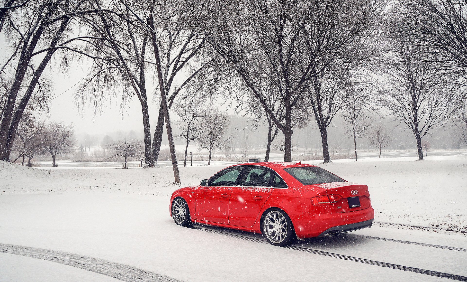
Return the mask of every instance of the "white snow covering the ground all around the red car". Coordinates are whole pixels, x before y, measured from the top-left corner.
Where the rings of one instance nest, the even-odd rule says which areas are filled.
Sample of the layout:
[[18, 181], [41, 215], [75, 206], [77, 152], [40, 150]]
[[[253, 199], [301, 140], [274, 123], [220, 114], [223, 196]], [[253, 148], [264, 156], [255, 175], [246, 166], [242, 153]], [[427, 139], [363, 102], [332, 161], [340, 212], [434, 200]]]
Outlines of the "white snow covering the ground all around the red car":
[[[0, 162], [0, 251], [1, 244], [11, 244], [75, 253], [186, 282], [447, 281], [323, 251], [467, 276], [465, 251], [354, 236], [467, 248], [467, 156], [414, 159], [306, 162], [367, 184], [375, 208], [372, 228], [297, 245], [318, 253], [177, 226], [169, 216], [169, 197], [180, 186], [171, 185], [170, 167], [36, 169]], [[182, 186], [198, 184], [225, 166], [181, 167]], [[0, 252], [3, 281], [118, 280]]]

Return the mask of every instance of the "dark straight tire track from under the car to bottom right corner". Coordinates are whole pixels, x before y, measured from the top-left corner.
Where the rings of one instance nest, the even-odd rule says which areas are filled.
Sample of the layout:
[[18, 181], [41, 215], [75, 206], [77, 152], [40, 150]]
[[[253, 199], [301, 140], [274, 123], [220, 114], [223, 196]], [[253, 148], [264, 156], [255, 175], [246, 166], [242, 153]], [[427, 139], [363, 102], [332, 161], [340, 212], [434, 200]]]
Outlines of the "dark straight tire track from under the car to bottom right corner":
[[[266, 241], [266, 240], [256, 239], [256, 238], [252, 238], [252, 237], [248, 237], [248, 236], [241, 236], [241, 235], [237, 235], [237, 234], [231, 234], [231, 233], [226, 233], [226, 232], [221, 232], [221, 231], [217, 231], [217, 230], [213, 230], [213, 229], [196, 227], [196, 226], [191, 226], [190, 228], [203, 230], [203, 231], [208, 231], [208, 232], [217, 233], [217, 234], [222, 234], [222, 235], [229, 236], [229, 237], [245, 239], [245, 240], [248, 240], [248, 241], [269, 244], [269, 242]], [[403, 266], [403, 265], [398, 265], [398, 264], [393, 264], [393, 263], [388, 263], [388, 262], [382, 262], [382, 261], [377, 261], [377, 260], [367, 260], [367, 259], [352, 257], [352, 256], [343, 255], [343, 254], [339, 254], [339, 253], [329, 253], [329, 252], [325, 252], [325, 251], [319, 251], [319, 250], [304, 248], [304, 247], [300, 247], [300, 246], [286, 246], [285, 248], [292, 249], [292, 250], [297, 250], [297, 251], [301, 251], [301, 252], [306, 252], [306, 253], [314, 253], [314, 254], [318, 254], [318, 255], [329, 256], [329, 257], [333, 257], [333, 258], [341, 259], [341, 260], [351, 260], [351, 261], [376, 265], [376, 266], [385, 267], [385, 268], [392, 268], [392, 269], [397, 269], [397, 270], [410, 271], [410, 272], [415, 272], [415, 273], [420, 273], [420, 274], [425, 274], [425, 275], [432, 275], [432, 276], [438, 276], [438, 277], [442, 277], [442, 278], [448, 278], [448, 279], [453, 279], [453, 280], [457, 280], [457, 281], [467, 282], [467, 276], [449, 274], [449, 273], [433, 271], [433, 270], [427, 270], [427, 269], [422, 269], [422, 268], [406, 267], [406, 266]]]

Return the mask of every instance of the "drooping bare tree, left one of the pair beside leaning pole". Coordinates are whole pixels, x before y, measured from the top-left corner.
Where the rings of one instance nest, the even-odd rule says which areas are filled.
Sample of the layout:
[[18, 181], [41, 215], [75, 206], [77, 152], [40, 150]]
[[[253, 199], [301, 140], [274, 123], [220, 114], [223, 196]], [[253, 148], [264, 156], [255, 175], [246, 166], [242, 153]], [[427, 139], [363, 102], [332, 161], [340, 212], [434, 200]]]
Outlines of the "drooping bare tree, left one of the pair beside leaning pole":
[[[146, 2], [135, 6], [143, 9]], [[100, 7], [99, 1], [96, 5]], [[142, 109], [142, 125], [145, 144], [145, 166], [155, 166], [151, 151], [151, 129], [149, 125], [149, 102], [147, 93], [147, 72], [150, 64], [147, 58], [149, 33], [145, 26], [132, 20], [132, 11], [126, 0], [111, 1], [113, 13], [99, 14], [91, 22], [89, 53], [93, 55], [90, 75], [80, 85], [75, 101], [84, 104], [91, 100], [101, 110], [107, 97], [121, 94], [121, 108], [136, 94]], [[134, 17], [133, 17], [134, 18]], [[117, 91], [122, 87], [123, 91]]]

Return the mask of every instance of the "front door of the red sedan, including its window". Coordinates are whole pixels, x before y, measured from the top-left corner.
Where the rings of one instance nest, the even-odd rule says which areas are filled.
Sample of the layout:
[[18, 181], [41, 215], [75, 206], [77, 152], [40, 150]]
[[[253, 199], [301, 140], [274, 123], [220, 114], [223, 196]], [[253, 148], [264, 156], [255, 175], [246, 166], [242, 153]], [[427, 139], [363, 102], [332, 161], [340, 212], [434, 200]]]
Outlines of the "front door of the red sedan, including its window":
[[228, 224], [230, 193], [242, 169], [243, 166], [228, 167], [212, 176], [207, 187], [195, 192], [197, 221]]

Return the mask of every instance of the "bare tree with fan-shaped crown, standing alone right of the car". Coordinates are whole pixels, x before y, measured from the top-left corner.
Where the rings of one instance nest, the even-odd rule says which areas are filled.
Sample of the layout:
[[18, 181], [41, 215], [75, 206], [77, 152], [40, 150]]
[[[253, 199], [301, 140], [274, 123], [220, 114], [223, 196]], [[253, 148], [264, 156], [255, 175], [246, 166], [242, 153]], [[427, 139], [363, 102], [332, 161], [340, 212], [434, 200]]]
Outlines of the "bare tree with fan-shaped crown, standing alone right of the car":
[[446, 64], [433, 58], [432, 47], [397, 32], [388, 38], [382, 65], [387, 84], [377, 103], [412, 130], [421, 160], [422, 138], [450, 120], [464, 94]]

